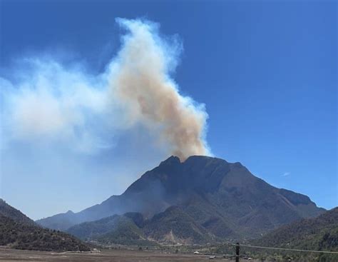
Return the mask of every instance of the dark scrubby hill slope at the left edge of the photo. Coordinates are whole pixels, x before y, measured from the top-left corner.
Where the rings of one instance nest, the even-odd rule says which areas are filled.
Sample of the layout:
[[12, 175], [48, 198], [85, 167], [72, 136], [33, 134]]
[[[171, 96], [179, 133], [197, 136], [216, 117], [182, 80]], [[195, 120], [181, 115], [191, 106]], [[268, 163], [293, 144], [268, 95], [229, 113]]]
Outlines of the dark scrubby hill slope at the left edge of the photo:
[[68, 233], [41, 228], [0, 199], [0, 246], [36, 251], [90, 251]]

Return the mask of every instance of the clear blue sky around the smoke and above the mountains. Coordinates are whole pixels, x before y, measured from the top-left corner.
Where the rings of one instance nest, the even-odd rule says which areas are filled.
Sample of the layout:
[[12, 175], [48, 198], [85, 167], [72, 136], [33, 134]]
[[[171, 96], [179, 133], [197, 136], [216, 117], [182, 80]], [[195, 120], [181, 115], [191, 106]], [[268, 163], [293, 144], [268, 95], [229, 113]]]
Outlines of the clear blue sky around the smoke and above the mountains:
[[[121, 49], [118, 17], [155, 21], [164, 39], [180, 39], [171, 76], [205, 104], [215, 156], [337, 206], [337, 2], [2, 0], [1, 78], [18, 81], [27, 57], [101, 74]], [[163, 160], [135, 146], [150, 139], [126, 131], [95, 155], [11, 141], [1, 149], [0, 196], [32, 218], [80, 211]]]

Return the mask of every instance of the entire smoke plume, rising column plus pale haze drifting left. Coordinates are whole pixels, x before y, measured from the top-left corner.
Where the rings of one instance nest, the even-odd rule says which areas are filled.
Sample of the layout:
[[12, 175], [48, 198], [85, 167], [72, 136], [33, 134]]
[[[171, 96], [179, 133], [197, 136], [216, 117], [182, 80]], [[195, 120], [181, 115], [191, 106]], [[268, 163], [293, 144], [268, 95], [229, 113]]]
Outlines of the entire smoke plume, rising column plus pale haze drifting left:
[[208, 114], [182, 96], [170, 77], [180, 41], [161, 38], [149, 21], [117, 19], [127, 33], [103, 74], [66, 68], [50, 59], [26, 59], [20, 81], [0, 79], [6, 141], [56, 141], [93, 153], [113, 146], [114, 136], [143, 126], [155, 145], [184, 160], [208, 155]]

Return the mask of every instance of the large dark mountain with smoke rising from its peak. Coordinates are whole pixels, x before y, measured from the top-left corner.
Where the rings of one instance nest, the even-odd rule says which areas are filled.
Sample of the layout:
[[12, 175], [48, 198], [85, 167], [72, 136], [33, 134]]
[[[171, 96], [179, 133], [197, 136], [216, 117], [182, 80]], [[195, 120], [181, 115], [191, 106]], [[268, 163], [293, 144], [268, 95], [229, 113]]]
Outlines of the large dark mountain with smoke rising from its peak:
[[[148, 221], [160, 218], [165, 222], [170, 218], [158, 215], [164, 212], [165, 216], [173, 216], [169, 211], [165, 213], [171, 206], [179, 207], [175, 212], [193, 221], [195, 227], [191, 232], [202, 233], [203, 228], [210, 236], [222, 239], [257, 238], [324, 211], [307, 196], [275, 188], [253, 176], [241, 163], [208, 156], [190, 156], [180, 162], [178, 157], [171, 156], [145, 172], [121, 196], [111, 196], [79, 213], [58, 214], [37, 222], [66, 230], [78, 223], [127, 212], [141, 213]], [[158, 238], [158, 234], [153, 233], [153, 237]]]

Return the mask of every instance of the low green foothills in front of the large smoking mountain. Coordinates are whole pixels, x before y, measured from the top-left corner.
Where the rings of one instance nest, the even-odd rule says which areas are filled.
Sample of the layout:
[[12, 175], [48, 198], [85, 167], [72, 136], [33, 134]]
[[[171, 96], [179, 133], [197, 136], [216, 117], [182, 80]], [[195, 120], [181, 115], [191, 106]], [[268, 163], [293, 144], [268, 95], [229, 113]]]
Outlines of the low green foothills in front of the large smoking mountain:
[[67, 232], [85, 241], [147, 246], [158, 242], [190, 244], [214, 240], [212, 234], [178, 206], [170, 206], [147, 220], [141, 213], [125, 213], [80, 223]]

